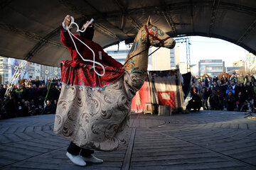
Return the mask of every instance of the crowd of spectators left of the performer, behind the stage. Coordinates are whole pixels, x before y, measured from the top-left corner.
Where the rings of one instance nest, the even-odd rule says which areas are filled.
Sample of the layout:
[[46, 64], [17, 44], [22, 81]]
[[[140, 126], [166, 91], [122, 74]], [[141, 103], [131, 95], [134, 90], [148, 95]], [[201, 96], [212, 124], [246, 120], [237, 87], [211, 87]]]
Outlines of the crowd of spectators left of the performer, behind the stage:
[[58, 77], [22, 79], [9, 86], [0, 85], [0, 119], [55, 113], [61, 90]]

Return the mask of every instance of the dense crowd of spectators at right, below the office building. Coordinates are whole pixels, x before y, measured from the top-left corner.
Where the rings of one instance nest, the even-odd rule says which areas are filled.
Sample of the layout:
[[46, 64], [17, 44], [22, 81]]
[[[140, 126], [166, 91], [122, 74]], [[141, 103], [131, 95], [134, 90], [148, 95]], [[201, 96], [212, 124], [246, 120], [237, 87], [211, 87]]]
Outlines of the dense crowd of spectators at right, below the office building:
[[[221, 77], [221, 78], [220, 78]], [[256, 112], [256, 80], [253, 74], [193, 77], [191, 91], [201, 98], [204, 110]]]

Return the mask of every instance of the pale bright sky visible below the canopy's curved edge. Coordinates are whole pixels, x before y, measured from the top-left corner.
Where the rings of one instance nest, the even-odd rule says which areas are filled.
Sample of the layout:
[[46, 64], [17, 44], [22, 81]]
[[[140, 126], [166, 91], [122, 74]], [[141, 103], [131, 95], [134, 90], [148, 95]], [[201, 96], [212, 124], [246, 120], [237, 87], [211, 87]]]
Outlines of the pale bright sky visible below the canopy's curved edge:
[[[198, 64], [199, 60], [223, 60], [225, 67], [232, 67], [233, 62], [243, 60], [248, 54], [247, 50], [231, 42], [218, 38], [206, 38], [191, 36], [191, 64]], [[176, 43], [180, 47], [180, 62], [186, 62], [186, 43]], [[127, 49], [124, 42], [119, 49]], [[105, 50], [117, 50], [117, 45], [105, 48]]]

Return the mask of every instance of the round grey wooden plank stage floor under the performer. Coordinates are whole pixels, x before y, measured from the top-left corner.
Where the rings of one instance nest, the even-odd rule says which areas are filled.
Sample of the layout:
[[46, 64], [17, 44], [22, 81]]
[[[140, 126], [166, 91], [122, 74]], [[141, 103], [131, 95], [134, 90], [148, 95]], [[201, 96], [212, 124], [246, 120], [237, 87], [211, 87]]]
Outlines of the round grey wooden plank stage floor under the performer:
[[200, 111], [169, 117], [132, 114], [126, 149], [95, 152], [85, 167], [65, 156], [55, 115], [0, 120], [0, 169], [256, 169], [256, 121], [245, 113]]

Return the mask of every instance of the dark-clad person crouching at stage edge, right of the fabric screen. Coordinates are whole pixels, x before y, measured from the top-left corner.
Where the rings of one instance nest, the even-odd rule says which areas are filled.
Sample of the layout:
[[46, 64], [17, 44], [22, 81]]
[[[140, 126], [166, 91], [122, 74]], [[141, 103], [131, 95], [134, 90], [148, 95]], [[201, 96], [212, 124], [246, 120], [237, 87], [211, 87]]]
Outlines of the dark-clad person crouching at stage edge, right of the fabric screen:
[[191, 100], [188, 101], [188, 105], [186, 106], [186, 113], [189, 113], [191, 109], [193, 109], [193, 111], [200, 111], [201, 107], [202, 101], [200, 96], [191, 89]]

